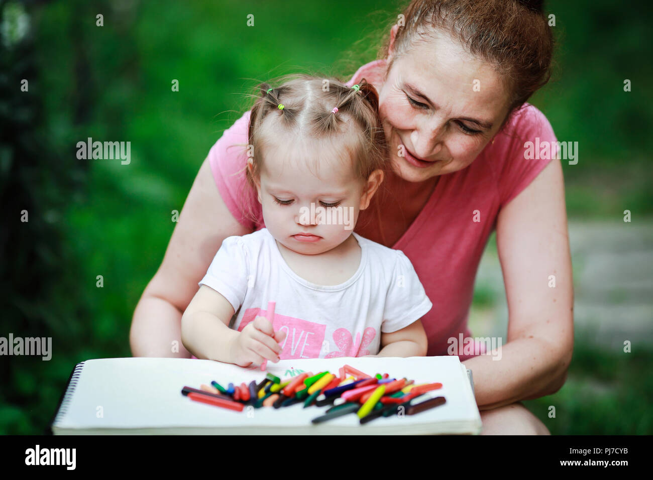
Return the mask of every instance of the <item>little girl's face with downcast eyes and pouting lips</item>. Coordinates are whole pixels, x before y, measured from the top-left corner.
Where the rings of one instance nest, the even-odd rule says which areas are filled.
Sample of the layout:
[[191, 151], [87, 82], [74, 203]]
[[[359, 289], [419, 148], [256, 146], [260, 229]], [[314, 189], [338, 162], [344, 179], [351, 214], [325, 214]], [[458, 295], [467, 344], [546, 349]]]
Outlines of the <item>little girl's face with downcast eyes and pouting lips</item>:
[[257, 191], [265, 226], [283, 246], [304, 255], [347, 240], [383, 180], [381, 170], [368, 182], [356, 178], [346, 150], [328, 141], [278, 133], [264, 156]]

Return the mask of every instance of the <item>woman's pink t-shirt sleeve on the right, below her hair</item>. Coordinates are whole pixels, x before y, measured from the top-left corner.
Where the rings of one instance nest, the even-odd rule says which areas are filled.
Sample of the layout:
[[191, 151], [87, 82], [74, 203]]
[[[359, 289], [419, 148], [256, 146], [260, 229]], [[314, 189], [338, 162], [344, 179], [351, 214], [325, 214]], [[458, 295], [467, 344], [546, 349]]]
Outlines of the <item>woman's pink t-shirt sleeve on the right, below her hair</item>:
[[524, 190], [556, 156], [557, 140], [549, 120], [535, 106], [526, 106], [511, 121], [511, 142], [503, 154], [498, 189], [505, 206]]

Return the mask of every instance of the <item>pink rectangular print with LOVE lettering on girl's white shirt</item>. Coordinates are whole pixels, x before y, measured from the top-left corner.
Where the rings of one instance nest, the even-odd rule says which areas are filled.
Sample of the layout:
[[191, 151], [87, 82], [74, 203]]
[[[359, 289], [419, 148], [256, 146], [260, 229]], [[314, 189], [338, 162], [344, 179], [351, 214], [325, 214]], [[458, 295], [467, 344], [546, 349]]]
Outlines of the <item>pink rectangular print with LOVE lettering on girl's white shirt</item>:
[[[267, 316], [267, 310], [263, 308], [247, 308], [238, 325], [238, 331], [247, 327], [247, 324], [254, 321], [255, 317]], [[300, 318], [279, 315], [274, 312], [272, 322], [274, 331], [285, 330], [286, 338], [279, 344], [281, 347], [281, 360], [289, 359], [319, 359], [322, 342], [325, 339], [327, 325], [302, 320]]]

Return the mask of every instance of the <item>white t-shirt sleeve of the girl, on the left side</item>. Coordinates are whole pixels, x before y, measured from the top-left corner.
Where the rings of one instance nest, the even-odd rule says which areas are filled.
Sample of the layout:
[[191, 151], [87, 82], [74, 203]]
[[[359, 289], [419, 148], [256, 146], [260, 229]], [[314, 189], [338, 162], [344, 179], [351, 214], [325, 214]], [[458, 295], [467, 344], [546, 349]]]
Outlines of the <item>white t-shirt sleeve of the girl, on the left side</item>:
[[229, 236], [223, 240], [198, 285], [206, 285], [220, 293], [229, 300], [234, 312], [237, 312], [245, 298], [248, 279], [245, 245], [239, 236]]

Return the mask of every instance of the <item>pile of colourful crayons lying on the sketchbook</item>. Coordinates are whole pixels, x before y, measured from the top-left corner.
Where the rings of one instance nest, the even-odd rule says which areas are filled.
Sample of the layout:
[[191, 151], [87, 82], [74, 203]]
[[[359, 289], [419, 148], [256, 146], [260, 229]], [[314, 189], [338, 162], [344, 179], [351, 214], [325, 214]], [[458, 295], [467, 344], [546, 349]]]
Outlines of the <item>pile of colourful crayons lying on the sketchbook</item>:
[[200, 389], [183, 387], [182, 394], [195, 402], [236, 411], [242, 411], [247, 405], [254, 408], [281, 408], [300, 402], [304, 403], [304, 408], [313, 404], [330, 405], [325, 415], [312, 420], [314, 424], [349, 413], [356, 413], [360, 424], [364, 424], [399, 411], [414, 415], [442, 405], [446, 401], [443, 396], [427, 393], [441, 387], [441, 383], [415, 385], [413, 380], [389, 378], [388, 374], [372, 377], [345, 365], [340, 368], [339, 376], [328, 371], [315, 375], [308, 372], [281, 381], [268, 373], [259, 383], [254, 380], [249, 385], [229, 383], [225, 389], [212, 381], [211, 385], [202, 385]]

